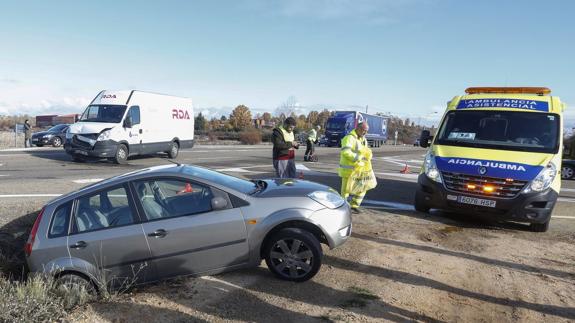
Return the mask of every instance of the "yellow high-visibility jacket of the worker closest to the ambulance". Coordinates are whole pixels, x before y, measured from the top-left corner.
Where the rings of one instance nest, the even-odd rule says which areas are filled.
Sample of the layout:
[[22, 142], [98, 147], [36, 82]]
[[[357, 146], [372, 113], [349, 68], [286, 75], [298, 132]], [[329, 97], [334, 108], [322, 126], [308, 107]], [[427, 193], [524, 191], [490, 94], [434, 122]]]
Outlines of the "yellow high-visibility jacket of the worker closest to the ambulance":
[[365, 137], [358, 138], [354, 129], [341, 140], [337, 173], [341, 177], [349, 177], [353, 168], [368, 158], [371, 159], [371, 150], [367, 146], [367, 140]]

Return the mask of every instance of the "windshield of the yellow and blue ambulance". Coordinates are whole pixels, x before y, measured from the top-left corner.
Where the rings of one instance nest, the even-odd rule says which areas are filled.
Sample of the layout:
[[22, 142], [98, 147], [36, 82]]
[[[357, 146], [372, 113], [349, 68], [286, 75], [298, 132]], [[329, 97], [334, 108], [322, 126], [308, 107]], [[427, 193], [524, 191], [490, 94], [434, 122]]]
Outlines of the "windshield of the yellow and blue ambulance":
[[514, 111], [452, 111], [436, 144], [541, 153], [558, 150], [559, 116]]

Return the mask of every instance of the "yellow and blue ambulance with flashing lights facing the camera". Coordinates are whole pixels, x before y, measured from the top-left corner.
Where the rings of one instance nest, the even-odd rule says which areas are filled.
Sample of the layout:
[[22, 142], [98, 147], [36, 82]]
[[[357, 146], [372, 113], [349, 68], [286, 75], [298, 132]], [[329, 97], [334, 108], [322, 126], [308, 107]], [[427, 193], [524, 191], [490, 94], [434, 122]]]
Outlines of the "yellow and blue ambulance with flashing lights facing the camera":
[[565, 109], [545, 87], [471, 87], [448, 102], [418, 177], [415, 209], [549, 228], [561, 187]]

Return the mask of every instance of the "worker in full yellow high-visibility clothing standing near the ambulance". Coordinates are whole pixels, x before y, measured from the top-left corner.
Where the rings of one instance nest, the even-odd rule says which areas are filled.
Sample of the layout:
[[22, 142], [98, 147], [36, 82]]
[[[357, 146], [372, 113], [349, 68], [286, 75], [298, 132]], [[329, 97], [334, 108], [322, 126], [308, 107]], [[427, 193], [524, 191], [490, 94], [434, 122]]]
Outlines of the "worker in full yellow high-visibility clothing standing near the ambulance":
[[367, 122], [360, 122], [354, 130], [341, 140], [341, 152], [339, 157], [338, 175], [341, 177], [341, 196], [349, 201], [353, 213], [360, 213], [359, 206], [363, 201], [366, 192], [350, 194], [349, 177], [355, 167], [363, 167], [365, 162], [372, 157], [371, 149], [365, 139], [365, 134], [369, 130]]

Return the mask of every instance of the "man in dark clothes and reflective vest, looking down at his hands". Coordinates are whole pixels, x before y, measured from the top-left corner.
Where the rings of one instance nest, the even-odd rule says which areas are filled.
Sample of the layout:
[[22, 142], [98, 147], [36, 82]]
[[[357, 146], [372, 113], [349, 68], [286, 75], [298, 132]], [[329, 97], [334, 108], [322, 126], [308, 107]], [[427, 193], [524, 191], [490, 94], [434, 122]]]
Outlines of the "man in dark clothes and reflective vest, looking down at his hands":
[[289, 117], [272, 133], [273, 165], [279, 178], [296, 177], [294, 158], [295, 149], [299, 148], [299, 144], [295, 141], [293, 133], [295, 126], [295, 119]]

